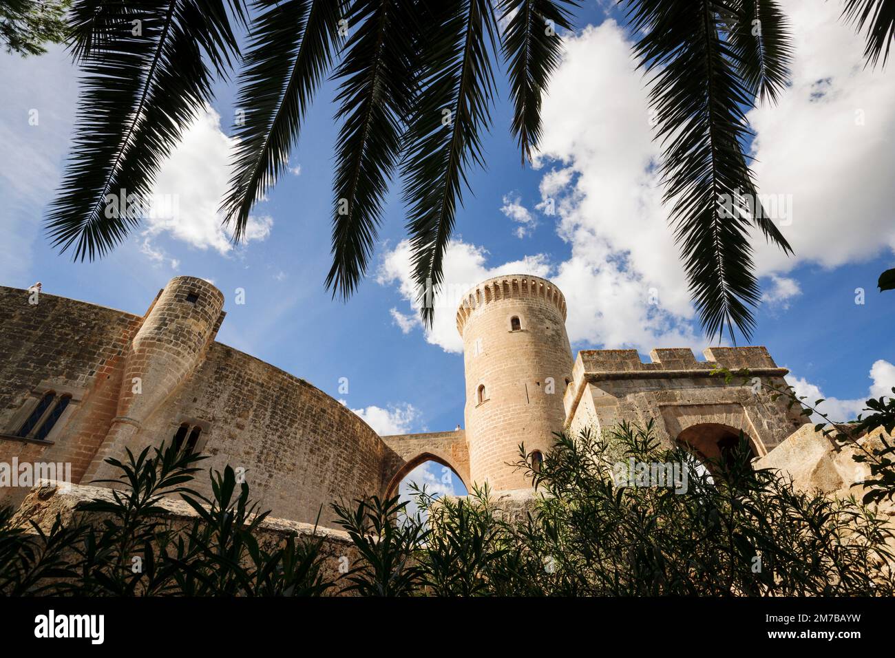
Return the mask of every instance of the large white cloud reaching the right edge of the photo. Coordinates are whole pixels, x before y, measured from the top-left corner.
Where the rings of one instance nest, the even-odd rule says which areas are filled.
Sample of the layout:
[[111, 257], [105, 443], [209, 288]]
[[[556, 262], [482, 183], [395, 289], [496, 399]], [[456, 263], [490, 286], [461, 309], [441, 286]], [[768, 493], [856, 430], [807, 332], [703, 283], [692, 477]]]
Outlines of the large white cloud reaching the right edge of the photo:
[[748, 115], [757, 132], [756, 180], [762, 193], [791, 195], [796, 252], [756, 241], [762, 273], [811, 261], [824, 267], [895, 250], [895, 74], [865, 68], [864, 39], [840, 20], [837, 3], [785, 0], [795, 59], [792, 86], [778, 106]]

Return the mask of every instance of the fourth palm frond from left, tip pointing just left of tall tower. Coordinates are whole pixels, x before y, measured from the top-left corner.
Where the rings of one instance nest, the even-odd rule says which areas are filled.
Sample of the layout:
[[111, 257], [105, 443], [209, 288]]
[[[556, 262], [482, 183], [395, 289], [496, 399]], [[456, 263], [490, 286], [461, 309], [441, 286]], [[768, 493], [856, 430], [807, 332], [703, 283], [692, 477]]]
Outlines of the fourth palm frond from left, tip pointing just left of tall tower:
[[490, 125], [496, 30], [488, 0], [439, 4], [422, 52], [425, 77], [406, 133], [402, 172], [413, 278], [428, 324], [434, 310], [425, 300], [441, 284], [456, 204], [468, 187], [466, 169], [484, 166], [481, 132]]

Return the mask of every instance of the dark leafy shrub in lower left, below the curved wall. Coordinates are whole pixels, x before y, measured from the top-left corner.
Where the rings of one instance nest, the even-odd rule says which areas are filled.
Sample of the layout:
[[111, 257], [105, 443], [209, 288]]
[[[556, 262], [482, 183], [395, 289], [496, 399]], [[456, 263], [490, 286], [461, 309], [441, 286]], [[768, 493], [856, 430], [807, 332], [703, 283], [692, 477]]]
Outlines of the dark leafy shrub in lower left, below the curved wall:
[[[0, 594], [95, 596], [318, 595], [332, 583], [320, 575], [322, 538], [290, 537], [278, 548], [262, 547], [256, 534], [268, 516], [237, 487], [232, 468], [211, 474], [213, 496], [188, 486], [204, 457], [179, 445], [162, 445], [122, 463], [108, 498], [76, 510], [99, 519], [66, 526], [57, 515], [49, 532], [33, 521], [28, 533], [0, 511]], [[163, 496], [180, 496], [199, 517], [185, 528], [161, 520]], [[76, 517], [81, 519], [81, 517]]]

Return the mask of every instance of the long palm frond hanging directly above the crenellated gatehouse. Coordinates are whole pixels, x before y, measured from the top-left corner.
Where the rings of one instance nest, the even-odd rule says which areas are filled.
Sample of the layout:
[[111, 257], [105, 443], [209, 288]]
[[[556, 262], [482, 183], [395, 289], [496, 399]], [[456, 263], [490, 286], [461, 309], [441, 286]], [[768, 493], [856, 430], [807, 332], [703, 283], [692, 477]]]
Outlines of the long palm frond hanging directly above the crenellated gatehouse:
[[748, 339], [754, 329], [750, 306], [760, 298], [749, 224], [754, 221], [784, 248], [788, 244], [761, 209], [755, 218], [725, 212], [725, 199], [758, 198], [743, 153], [751, 136], [744, 108], [752, 98], [737, 75], [737, 53], [720, 34], [732, 6], [640, 0], [629, 15], [632, 29], [645, 35], [635, 54], [652, 73], [650, 98], [664, 146], [664, 200], [671, 203], [696, 309], [708, 335], [720, 337], [727, 329], [735, 339], [738, 329]]

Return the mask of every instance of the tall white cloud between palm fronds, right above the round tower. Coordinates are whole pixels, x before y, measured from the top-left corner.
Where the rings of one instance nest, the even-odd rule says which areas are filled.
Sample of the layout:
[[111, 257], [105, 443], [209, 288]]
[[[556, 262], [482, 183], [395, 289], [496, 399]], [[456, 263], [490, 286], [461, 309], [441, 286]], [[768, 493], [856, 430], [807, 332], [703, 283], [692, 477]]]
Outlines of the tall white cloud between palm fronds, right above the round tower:
[[[687, 335], [684, 323], [694, 317], [661, 205], [655, 170], [661, 150], [652, 140], [648, 112], [644, 78], [635, 71], [624, 30], [611, 20], [588, 27], [567, 38], [566, 54], [550, 81], [537, 158], [539, 165], [564, 166], [541, 180], [542, 197], [556, 198], [558, 233], [572, 248], [561, 268], [566, 284], [557, 280], [558, 285], [567, 297], [599, 297], [588, 295], [594, 285], [609, 294], [599, 307], [591, 304], [591, 312], [580, 314], [583, 326], [570, 333], [644, 350], [652, 347], [644, 340]], [[651, 288], [660, 301], [652, 308]], [[639, 338], [626, 341], [631, 320], [643, 329]]]

